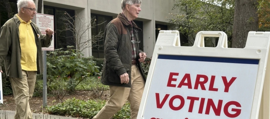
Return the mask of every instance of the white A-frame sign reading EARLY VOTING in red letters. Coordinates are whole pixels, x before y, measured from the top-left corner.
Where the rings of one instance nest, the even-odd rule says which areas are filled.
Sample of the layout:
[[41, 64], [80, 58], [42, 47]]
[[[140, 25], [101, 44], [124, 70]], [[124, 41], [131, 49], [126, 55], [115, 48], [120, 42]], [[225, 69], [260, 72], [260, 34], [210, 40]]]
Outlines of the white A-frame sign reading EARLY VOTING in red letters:
[[[219, 37], [204, 47], [204, 37]], [[197, 33], [180, 46], [178, 31], [161, 30], [137, 119], [257, 119], [270, 32], [249, 32], [245, 48], [227, 48], [221, 31]]]

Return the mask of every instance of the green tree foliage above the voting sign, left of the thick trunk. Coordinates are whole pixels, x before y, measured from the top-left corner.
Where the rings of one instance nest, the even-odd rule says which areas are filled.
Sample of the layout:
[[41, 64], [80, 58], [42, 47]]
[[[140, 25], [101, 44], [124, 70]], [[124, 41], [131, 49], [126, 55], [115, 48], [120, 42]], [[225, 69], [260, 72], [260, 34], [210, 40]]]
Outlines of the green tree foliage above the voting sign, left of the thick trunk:
[[178, 13], [171, 14], [169, 22], [188, 35], [189, 45], [199, 31], [223, 31], [231, 41], [234, 0], [176, 0], [173, 9]]

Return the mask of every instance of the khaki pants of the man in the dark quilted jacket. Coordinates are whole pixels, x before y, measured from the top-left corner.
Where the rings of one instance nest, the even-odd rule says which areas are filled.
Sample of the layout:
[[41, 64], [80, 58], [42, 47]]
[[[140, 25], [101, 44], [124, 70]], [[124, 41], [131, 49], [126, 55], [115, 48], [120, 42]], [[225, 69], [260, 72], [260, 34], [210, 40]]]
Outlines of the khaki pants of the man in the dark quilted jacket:
[[145, 82], [137, 65], [131, 67], [131, 88], [110, 86], [110, 98], [93, 119], [110, 119], [125, 102], [130, 102], [131, 119], [137, 119]]

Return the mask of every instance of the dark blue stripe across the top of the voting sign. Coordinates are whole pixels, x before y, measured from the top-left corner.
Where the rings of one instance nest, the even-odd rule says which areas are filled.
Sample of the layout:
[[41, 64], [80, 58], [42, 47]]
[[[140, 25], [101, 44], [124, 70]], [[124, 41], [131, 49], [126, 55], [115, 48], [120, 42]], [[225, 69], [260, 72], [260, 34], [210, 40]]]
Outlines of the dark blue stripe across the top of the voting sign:
[[208, 61], [224, 62], [238, 64], [259, 64], [258, 59], [240, 59], [240, 58], [218, 58], [218, 57], [201, 57], [201, 56], [182, 56], [182, 55], [158, 55], [158, 59], [186, 60], [186, 61]]

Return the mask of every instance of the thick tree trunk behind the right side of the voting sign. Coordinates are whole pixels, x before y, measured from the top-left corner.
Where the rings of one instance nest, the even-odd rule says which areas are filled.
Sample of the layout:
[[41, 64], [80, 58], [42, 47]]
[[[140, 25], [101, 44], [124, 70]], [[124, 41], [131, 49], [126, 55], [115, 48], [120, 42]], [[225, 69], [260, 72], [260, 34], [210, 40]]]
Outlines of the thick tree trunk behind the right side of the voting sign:
[[258, 31], [257, 0], [235, 0], [232, 48], [244, 48], [248, 32]]

